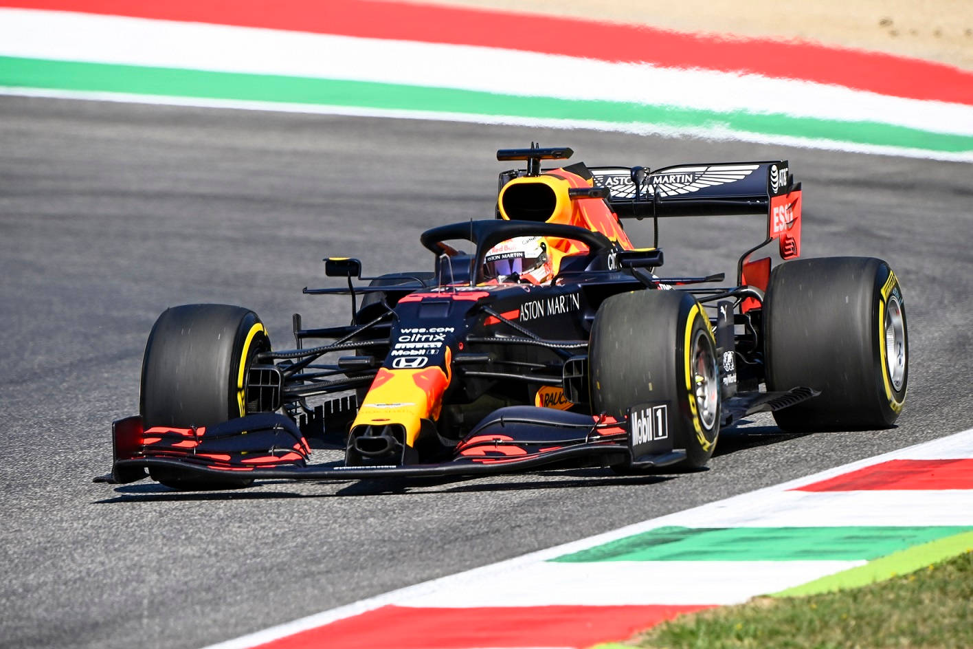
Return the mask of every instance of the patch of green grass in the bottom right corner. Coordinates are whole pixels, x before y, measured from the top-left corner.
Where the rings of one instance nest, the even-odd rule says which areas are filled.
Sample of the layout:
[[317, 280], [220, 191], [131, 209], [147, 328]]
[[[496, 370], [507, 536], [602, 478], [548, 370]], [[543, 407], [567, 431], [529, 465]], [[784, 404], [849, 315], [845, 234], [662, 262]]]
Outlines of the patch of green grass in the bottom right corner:
[[862, 588], [760, 597], [684, 615], [601, 649], [973, 647], [973, 552]]

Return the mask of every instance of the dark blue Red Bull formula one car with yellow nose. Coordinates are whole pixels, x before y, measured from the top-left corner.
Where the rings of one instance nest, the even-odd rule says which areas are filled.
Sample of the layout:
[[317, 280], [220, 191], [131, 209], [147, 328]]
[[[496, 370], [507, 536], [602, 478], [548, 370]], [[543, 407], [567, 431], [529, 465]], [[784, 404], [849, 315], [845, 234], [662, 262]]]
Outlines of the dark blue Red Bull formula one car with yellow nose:
[[[271, 348], [246, 308], [165, 310], [105, 480], [685, 470], [755, 412], [788, 431], [895, 421], [908, 383], [898, 280], [878, 259], [796, 259], [787, 162], [541, 168], [571, 154], [499, 151], [526, 168], [500, 173], [495, 218], [421, 235], [432, 271], [363, 277], [358, 260], [326, 259], [347, 286], [305, 292], [350, 295], [351, 324], [295, 315], [293, 349]], [[767, 236], [734, 285], [658, 274], [658, 219], [754, 213]], [[620, 218], [655, 220], [654, 245], [634, 247]], [[312, 464], [312, 447], [343, 460]]]

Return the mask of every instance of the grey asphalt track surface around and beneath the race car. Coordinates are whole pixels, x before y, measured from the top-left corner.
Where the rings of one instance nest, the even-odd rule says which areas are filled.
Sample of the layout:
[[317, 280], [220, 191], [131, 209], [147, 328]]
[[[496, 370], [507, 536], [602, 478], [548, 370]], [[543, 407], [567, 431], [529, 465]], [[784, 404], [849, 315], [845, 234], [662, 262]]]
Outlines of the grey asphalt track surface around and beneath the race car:
[[[891, 262], [911, 376], [896, 428], [725, 433], [707, 471], [566, 470], [424, 483], [270, 483], [180, 493], [92, 484], [109, 426], [138, 408], [166, 306], [250, 306], [289, 346], [290, 315], [347, 318], [320, 263], [430, 265], [418, 234], [487, 218], [498, 147], [576, 160], [788, 158], [806, 256]], [[0, 97], [0, 646], [199, 647], [968, 428], [970, 165], [595, 131]], [[664, 224], [667, 272], [730, 270], [745, 217]], [[651, 241], [648, 222], [632, 238]], [[836, 359], [840, 361], [840, 359]], [[692, 575], [687, 575], [692, 578]]]

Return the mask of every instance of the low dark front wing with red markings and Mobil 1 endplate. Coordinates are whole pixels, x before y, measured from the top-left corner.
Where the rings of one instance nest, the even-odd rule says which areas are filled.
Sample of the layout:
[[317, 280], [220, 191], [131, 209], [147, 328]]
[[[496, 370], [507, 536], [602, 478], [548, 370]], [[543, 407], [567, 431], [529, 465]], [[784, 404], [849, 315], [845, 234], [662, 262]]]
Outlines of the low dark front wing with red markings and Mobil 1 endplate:
[[[622, 418], [532, 406], [502, 408], [480, 422], [434, 464], [312, 464], [305, 438], [283, 415], [259, 414], [205, 428], [143, 429], [141, 417], [112, 424], [112, 473], [124, 484], [162, 469], [188, 480], [362, 480], [511, 474], [552, 464], [589, 463], [651, 469], [677, 463], [665, 415], [668, 404], [642, 404]], [[660, 416], [660, 410], [663, 416]]]

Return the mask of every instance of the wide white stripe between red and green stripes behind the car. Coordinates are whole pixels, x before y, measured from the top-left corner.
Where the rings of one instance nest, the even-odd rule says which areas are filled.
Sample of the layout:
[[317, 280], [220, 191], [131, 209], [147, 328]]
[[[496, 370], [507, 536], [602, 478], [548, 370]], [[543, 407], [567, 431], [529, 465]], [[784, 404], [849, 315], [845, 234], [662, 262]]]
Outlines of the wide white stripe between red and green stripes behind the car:
[[200, 22], [0, 9], [0, 54], [879, 122], [973, 135], [973, 106], [801, 80]]

